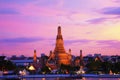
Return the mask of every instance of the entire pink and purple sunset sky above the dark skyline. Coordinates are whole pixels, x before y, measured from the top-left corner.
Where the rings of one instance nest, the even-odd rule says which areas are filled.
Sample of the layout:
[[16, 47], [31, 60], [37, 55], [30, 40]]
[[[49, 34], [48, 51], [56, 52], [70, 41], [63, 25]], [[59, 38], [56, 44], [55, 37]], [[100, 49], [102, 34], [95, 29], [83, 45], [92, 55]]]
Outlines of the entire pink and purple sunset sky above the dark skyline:
[[66, 52], [120, 54], [120, 0], [0, 0], [0, 55], [54, 51], [61, 26]]

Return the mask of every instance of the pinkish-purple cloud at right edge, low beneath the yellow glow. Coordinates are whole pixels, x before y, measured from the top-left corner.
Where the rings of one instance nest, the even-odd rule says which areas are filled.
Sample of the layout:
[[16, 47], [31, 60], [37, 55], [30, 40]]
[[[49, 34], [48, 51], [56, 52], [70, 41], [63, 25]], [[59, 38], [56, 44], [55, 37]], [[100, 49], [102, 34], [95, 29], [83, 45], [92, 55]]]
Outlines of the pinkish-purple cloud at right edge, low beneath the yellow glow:
[[110, 47], [110, 48], [120, 48], [120, 41], [117, 40], [99, 40], [96, 41], [99, 45], [106, 45], [106, 47]]

